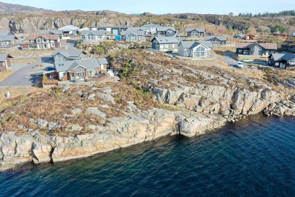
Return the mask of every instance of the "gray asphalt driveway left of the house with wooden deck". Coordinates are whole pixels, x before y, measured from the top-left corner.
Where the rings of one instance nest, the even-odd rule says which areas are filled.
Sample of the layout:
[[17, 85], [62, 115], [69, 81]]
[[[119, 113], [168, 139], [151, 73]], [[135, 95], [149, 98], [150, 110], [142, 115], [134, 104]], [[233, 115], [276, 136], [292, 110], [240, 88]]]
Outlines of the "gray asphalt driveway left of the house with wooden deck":
[[[26, 59], [26, 58], [24, 58]], [[32, 59], [32, 58], [29, 58]], [[0, 82], [0, 86], [19, 86], [19, 85], [32, 85], [36, 77], [34, 77], [34, 73], [40, 73], [45, 71], [45, 67], [53, 66], [52, 57], [36, 57], [38, 61], [33, 64], [14, 64], [10, 69], [16, 70], [14, 73], [9, 75], [6, 79]], [[37, 66], [37, 64], [41, 64], [41, 68], [33, 68]]]

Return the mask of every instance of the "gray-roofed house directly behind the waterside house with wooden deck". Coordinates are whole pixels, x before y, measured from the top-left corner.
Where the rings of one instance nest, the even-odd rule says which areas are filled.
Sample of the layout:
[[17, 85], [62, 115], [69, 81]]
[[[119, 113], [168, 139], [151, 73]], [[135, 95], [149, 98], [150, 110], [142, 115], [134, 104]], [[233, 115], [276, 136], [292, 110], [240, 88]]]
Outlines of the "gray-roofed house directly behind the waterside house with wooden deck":
[[82, 60], [88, 58], [85, 51], [76, 49], [55, 49], [51, 56], [53, 57], [54, 62]]

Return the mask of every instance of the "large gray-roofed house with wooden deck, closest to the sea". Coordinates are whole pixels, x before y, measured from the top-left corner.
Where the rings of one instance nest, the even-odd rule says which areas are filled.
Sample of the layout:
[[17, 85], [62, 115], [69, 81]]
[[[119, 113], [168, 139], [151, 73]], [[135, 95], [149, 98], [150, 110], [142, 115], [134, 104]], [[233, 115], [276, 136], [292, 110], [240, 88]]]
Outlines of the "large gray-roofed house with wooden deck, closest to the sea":
[[60, 81], [88, 79], [91, 76], [98, 76], [99, 72], [107, 69], [107, 65], [106, 58], [54, 62], [56, 70], [47, 76], [57, 76]]

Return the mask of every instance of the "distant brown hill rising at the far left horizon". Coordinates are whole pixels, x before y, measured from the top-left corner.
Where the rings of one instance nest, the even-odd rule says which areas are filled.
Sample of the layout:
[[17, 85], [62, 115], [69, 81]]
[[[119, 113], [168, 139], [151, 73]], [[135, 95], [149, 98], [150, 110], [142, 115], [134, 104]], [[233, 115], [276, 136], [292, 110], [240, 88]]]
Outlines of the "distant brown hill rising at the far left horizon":
[[8, 13], [8, 12], [28, 12], [28, 11], [52, 11], [46, 10], [42, 8], [35, 8], [31, 6], [24, 6], [19, 4], [8, 4], [0, 2], [0, 13]]

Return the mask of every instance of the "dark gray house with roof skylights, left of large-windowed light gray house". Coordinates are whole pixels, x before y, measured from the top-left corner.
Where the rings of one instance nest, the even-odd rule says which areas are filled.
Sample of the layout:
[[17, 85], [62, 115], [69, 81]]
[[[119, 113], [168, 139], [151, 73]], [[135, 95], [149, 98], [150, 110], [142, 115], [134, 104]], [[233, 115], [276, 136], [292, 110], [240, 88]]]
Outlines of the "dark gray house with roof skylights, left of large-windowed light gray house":
[[164, 51], [173, 52], [178, 50], [179, 40], [174, 36], [155, 36], [152, 40], [152, 48]]

